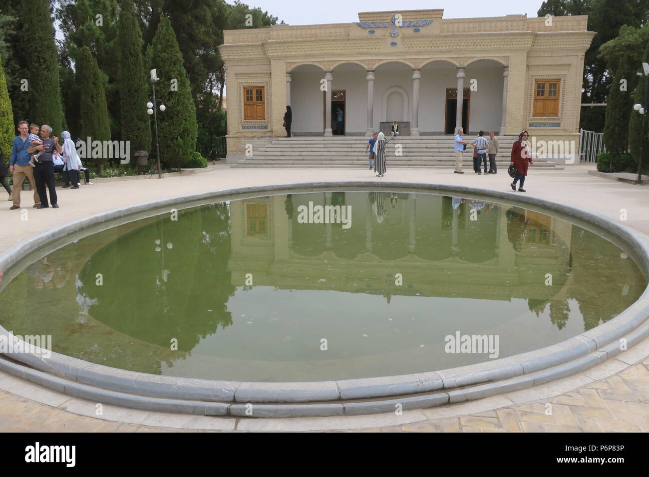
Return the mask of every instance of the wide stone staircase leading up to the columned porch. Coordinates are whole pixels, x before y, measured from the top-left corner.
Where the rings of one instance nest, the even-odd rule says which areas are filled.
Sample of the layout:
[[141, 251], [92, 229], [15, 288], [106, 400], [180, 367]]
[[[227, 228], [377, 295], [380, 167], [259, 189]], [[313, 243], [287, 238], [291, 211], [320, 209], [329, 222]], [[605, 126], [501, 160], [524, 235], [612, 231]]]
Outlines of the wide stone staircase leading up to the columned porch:
[[[474, 136], [465, 136], [467, 142]], [[498, 136], [500, 152], [496, 156], [499, 169], [509, 165], [509, 151], [517, 136]], [[369, 167], [363, 136], [294, 136], [293, 138], [255, 138], [251, 140], [252, 156], [239, 160], [230, 167]], [[452, 136], [404, 136], [390, 141], [387, 167], [454, 167]], [[395, 156], [400, 144], [402, 155]], [[471, 147], [464, 153], [463, 168], [473, 169]], [[535, 169], [563, 169], [545, 158], [534, 158]]]

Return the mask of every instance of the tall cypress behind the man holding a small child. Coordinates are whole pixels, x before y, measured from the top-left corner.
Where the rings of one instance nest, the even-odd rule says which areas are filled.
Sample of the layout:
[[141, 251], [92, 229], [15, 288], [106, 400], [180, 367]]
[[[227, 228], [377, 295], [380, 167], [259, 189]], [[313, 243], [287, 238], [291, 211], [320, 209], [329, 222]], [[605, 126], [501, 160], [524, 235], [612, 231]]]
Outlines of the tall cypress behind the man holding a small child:
[[29, 49], [19, 55], [27, 56], [29, 72], [29, 121], [52, 127], [53, 135], [63, 130], [61, 87], [58, 79], [58, 52], [54, 41], [49, 0], [21, 0], [24, 29]]

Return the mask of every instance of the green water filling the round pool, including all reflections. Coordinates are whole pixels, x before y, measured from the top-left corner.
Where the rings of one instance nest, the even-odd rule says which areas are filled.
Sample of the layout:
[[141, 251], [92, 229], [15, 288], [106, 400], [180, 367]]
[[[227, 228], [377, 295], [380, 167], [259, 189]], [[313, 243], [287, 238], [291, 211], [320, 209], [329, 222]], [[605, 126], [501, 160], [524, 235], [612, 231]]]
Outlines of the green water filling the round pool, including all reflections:
[[[330, 223], [320, 206], [334, 207]], [[265, 382], [417, 373], [608, 321], [647, 285], [629, 255], [552, 215], [471, 197], [271, 195], [66, 245], [3, 289], [0, 324], [144, 373]], [[449, 337], [458, 336], [498, 346], [457, 352]]]

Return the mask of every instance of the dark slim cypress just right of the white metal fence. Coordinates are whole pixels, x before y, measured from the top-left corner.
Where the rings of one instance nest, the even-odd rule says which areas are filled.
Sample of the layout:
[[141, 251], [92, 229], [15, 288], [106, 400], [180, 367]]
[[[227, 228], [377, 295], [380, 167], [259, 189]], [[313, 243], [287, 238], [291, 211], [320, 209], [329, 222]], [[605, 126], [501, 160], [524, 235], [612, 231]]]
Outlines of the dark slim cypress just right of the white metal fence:
[[[635, 83], [635, 72], [631, 71], [629, 58], [624, 55], [618, 64], [611, 92], [606, 100], [606, 124], [604, 144], [611, 154], [626, 153], [629, 146], [629, 119], [631, 117], [631, 95]], [[626, 91], [621, 91], [620, 81], [626, 80]]]

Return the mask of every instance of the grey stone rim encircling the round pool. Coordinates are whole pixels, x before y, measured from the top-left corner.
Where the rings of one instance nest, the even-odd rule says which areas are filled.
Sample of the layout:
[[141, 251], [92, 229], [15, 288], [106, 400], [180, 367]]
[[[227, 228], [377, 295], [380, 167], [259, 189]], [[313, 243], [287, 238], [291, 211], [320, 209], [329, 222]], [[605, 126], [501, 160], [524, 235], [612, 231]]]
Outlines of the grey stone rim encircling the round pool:
[[[514, 206], [520, 204], [540, 207], [548, 212], [585, 221], [621, 239], [637, 255], [637, 265], [643, 275], [649, 275], [649, 238], [629, 226], [580, 208], [511, 191], [450, 184], [358, 180], [232, 188], [110, 210], [58, 226], [10, 247], [0, 253], [0, 270], [10, 271], [19, 260], [45, 245], [112, 219], [137, 220], [141, 218], [134, 217], [138, 213], [193, 201], [218, 201], [219, 198], [239, 194], [304, 193], [313, 189], [336, 188], [387, 191], [408, 189], [413, 193], [479, 195]], [[180, 378], [97, 365], [56, 352], [51, 353], [51, 358], [26, 352], [3, 353], [0, 369], [67, 395], [131, 408], [243, 417], [248, 415], [247, 403], [270, 403], [255, 404], [254, 417], [358, 415], [394, 411], [396, 403], [401, 403], [403, 409], [408, 410], [463, 402], [532, 387], [585, 371], [622, 352], [618, 339], [626, 338], [628, 349], [649, 336], [649, 323], [644, 323], [649, 321], [648, 317], [649, 286], [639, 299], [615, 318], [555, 345], [508, 358], [428, 373], [337, 381], [236, 382]], [[12, 338], [2, 326], [0, 335]], [[368, 399], [374, 400], [367, 401]]]

